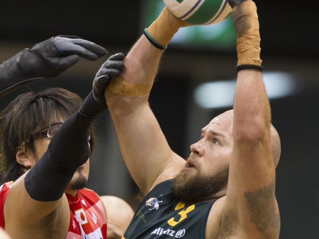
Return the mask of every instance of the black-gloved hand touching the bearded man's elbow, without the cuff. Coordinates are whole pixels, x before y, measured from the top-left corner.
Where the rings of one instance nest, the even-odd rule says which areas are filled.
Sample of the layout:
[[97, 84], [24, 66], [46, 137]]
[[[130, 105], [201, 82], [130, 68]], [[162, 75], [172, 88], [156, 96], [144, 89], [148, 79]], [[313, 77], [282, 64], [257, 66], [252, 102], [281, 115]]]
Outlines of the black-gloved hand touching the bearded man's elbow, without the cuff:
[[93, 81], [93, 96], [99, 105], [106, 106], [106, 99], [104, 96], [106, 86], [113, 77], [117, 77], [121, 74], [124, 67], [124, 58], [125, 55], [123, 53], [112, 55], [96, 73]]

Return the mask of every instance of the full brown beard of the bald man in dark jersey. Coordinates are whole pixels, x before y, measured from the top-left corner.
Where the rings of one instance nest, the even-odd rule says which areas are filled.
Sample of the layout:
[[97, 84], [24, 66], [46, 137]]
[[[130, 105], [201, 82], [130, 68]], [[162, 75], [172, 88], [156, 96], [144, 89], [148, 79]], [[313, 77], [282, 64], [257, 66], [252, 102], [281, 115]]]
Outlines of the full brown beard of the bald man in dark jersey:
[[227, 186], [228, 175], [229, 166], [222, 168], [212, 176], [205, 176], [200, 172], [187, 176], [182, 170], [173, 179], [174, 195], [186, 204], [212, 199], [217, 192]]

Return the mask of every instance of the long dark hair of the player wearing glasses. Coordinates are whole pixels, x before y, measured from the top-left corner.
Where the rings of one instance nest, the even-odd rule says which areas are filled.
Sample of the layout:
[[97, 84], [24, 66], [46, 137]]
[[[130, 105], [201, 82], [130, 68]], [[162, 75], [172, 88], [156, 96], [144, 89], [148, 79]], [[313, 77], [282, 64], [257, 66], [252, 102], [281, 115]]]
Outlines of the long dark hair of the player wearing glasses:
[[[29, 92], [11, 101], [0, 113], [0, 182], [15, 181], [26, 172], [27, 168], [16, 160], [19, 147], [35, 155], [34, 134], [58, 118], [68, 119], [81, 103], [80, 96], [61, 88]], [[90, 131], [92, 153], [95, 141], [92, 125]]]

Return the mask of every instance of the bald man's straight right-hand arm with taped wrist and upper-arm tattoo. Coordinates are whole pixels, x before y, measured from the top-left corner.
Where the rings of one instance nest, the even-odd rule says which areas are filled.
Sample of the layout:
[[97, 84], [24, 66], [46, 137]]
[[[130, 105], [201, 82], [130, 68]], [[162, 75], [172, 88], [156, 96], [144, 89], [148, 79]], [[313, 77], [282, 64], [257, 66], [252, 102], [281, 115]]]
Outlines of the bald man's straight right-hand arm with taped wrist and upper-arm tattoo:
[[[243, 238], [279, 237], [270, 106], [263, 83], [257, 8], [246, 0], [234, 9], [238, 78], [234, 100], [234, 148], [223, 215], [234, 218]], [[276, 147], [274, 147], [276, 148]], [[273, 149], [275, 150], [275, 149]], [[224, 218], [225, 219], [225, 218]]]

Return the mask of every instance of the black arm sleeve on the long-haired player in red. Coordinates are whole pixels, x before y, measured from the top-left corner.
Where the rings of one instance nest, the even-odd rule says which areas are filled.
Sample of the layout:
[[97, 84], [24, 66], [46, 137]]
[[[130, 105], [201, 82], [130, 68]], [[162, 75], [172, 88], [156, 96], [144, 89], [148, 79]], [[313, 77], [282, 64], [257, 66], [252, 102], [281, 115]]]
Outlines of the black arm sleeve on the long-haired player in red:
[[31, 198], [55, 201], [63, 195], [77, 168], [90, 156], [88, 128], [104, 109], [91, 92], [80, 110], [60, 127], [47, 151], [25, 177], [25, 188]]

